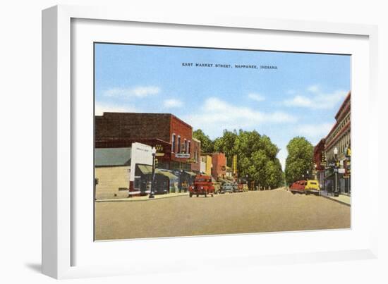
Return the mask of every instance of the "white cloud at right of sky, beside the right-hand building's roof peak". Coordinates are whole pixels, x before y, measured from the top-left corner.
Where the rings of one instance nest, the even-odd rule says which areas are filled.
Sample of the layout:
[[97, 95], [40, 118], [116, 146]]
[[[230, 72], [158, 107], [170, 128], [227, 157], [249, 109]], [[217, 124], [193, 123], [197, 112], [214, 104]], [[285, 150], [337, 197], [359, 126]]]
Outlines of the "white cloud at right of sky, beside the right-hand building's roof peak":
[[[310, 89], [315, 90], [315, 87], [312, 86]], [[308, 107], [311, 109], [332, 109], [339, 102], [343, 101], [348, 93], [341, 89], [327, 94], [320, 92], [319, 89], [311, 92], [314, 94], [309, 97], [298, 94], [292, 99], [286, 99], [284, 104], [286, 106]]]

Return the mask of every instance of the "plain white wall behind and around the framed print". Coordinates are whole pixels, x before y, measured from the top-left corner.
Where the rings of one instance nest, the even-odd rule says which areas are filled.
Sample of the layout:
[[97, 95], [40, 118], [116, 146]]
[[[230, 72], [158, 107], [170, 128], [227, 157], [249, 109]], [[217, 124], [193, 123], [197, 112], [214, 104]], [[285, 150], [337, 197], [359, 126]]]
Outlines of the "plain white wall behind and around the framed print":
[[[41, 237], [41, 10], [55, 4], [117, 5], [129, 1], [8, 0], [0, 4], [0, 121], [1, 121], [1, 274], [3, 283], [54, 283], [40, 270]], [[152, 3], [150, 3], [152, 2]], [[387, 121], [387, 52], [388, 22], [386, 1], [131, 1], [131, 8], [152, 9], [163, 13], [203, 13], [222, 11], [228, 14], [263, 18], [327, 20], [344, 23], [380, 25], [380, 121]], [[368, 113], [365, 113], [368, 115]], [[387, 135], [380, 133], [380, 147], [387, 145]], [[376, 176], [384, 177], [387, 152], [380, 151]], [[376, 157], [377, 159], [377, 157]], [[384, 163], [383, 163], [384, 161]], [[23, 163], [24, 162], [24, 163]], [[32, 165], [32, 166], [31, 166]], [[18, 168], [18, 171], [15, 169]], [[378, 173], [380, 172], [380, 174]], [[382, 180], [381, 184], [386, 184]], [[382, 187], [382, 190], [384, 188]], [[17, 190], [18, 195], [11, 192]], [[21, 193], [21, 194], [20, 194]], [[387, 190], [381, 192], [380, 215], [388, 216]], [[245, 271], [197, 271], [70, 280], [66, 283], [387, 283], [387, 222], [380, 220], [381, 259], [290, 266], [247, 267]]]

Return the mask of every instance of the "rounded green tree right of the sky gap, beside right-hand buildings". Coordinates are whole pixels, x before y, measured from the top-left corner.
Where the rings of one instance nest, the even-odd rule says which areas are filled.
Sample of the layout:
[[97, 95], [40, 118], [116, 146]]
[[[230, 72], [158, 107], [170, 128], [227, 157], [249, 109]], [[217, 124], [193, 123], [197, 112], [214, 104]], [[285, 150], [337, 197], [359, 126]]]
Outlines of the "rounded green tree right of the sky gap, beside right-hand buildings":
[[302, 180], [303, 175], [313, 171], [313, 144], [305, 137], [294, 137], [287, 144], [289, 152], [286, 159], [285, 178], [286, 183], [291, 184], [296, 180]]

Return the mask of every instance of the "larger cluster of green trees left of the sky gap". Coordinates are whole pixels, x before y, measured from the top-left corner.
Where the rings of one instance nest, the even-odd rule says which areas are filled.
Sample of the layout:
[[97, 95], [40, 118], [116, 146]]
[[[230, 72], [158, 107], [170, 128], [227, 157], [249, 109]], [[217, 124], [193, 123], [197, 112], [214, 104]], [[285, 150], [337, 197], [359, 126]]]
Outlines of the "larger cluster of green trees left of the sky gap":
[[193, 132], [193, 137], [201, 141], [202, 152], [223, 152], [228, 158], [228, 166], [237, 155], [237, 171], [241, 178], [248, 176], [248, 180], [265, 187], [284, 185], [284, 173], [277, 159], [279, 148], [269, 137], [255, 130], [224, 130], [222, 137], [211, 140], [200, 129]]

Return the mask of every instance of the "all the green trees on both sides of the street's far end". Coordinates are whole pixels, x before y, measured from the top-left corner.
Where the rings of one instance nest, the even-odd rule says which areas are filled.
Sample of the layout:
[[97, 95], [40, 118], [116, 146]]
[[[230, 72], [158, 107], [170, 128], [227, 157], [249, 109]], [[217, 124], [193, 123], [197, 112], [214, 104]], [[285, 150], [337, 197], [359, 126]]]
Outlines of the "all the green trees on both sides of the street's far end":
[[254, 180], [256, 184], [265, 187], [279, 187], [284, 180], [289, 185], [296, 180], [313, 173], [313, 144], [305, 137], [294, 137], [287, 144], [286, 168], [283, 173], [281, 163], [277, 159], [279, 148], [269, 137], [260, 135], [257, 131], [224, 130], [222, 137], [211, 140], [210, 137], [198, 129], [193, 137], [200, 140], [202, 152], [223, 152], [227, 165], [231, 166], [232, 157], [238, 156], [237, 170], [241, 178]]

